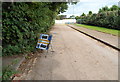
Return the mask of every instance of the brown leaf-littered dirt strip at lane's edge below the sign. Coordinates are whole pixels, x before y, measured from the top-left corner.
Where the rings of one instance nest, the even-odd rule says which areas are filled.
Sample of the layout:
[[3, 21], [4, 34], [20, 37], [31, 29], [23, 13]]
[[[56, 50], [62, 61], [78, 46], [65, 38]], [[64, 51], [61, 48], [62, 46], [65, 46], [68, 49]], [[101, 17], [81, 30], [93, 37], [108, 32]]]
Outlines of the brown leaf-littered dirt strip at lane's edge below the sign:
[[43, 51], [42, 50], [38, 50], [35, 53], [29, 53], [27, 56], [25, 56], [24, 61], [20, 64], [19, 68], [17, 71], [19, 71], [18, 74], [15, 74], [12, 76], [12, 78], [14, 80], [16, 79], [20, 79], [23, 75], [27, 75], [28, 73], [30, 73], [31, 69], [33, 68], [33, 66], [36, 63], [36, 60], [38, 57], [41, 57], [41, 54]]

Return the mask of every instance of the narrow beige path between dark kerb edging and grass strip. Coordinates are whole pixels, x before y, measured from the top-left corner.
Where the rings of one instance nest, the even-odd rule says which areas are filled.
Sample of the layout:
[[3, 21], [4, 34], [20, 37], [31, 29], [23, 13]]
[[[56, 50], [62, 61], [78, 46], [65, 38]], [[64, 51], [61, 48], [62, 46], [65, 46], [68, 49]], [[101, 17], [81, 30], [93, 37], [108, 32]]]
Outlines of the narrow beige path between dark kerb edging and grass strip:
[[76, 26], [76, 25], [72, 25], [72, 24], [69, 24], [69, 26], [72, 26], [76, 29], [79, 29], [80, 31], [82, 32], [85, 32], [89, 35], [92, 35], [94, 36], [95, 38], [98, 38], [108, 44], [111, 44], [117, 48], [119, 48], [118, 46], [118, 36], [114, 36], [112, 34], [107, 34], [107, 33], [103, 33], [103, 32], [99, 32], [99, 31], [95, 31], [95, 30], [91, 30], [91, 29], [87, 29], [87, 28], [84, 28], [84, 27], [79, 27], [79, 26]]

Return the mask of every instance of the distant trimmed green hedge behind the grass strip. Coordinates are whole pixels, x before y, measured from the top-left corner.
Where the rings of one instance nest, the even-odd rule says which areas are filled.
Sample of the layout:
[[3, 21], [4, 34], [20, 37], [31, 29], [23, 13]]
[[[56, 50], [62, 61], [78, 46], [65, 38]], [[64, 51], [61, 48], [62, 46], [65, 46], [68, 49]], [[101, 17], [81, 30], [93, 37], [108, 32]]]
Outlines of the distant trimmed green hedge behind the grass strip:
[[77, 23], [120, 30], [119, 12], [120, 10], [103, 11], [97, 14], [80, 16], [79, 18], [76, 19]]

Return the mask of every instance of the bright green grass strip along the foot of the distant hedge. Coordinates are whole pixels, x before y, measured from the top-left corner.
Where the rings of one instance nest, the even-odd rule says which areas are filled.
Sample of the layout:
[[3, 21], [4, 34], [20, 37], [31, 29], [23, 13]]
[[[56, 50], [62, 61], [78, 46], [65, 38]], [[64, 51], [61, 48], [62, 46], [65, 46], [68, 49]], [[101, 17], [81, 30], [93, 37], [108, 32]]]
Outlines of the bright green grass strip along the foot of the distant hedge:
[[120, 30], [108, 29], [108, 28], [98, 27], [98, 26], [84, 25], [84, 24], [75, 24], [75, 25], [80, 26], [80, 27], [85, 27], [85, 28], [88, 28], [88, 29], [91, 29], [91, 30], [96, 30], [96, 31], [100, 31], [100, 32], [120, 36], [120, 34], [119, 34]]

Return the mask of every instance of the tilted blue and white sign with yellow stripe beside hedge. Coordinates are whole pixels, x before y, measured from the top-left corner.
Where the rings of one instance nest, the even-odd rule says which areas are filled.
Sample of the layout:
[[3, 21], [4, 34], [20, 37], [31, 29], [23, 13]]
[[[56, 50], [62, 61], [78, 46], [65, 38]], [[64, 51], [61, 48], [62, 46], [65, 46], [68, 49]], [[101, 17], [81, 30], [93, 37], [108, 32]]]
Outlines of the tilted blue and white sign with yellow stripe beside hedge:
[[52, 40], [52, 35], [40, 34], [36, 48], [42, 50], [48, 50], [51, 40]]

